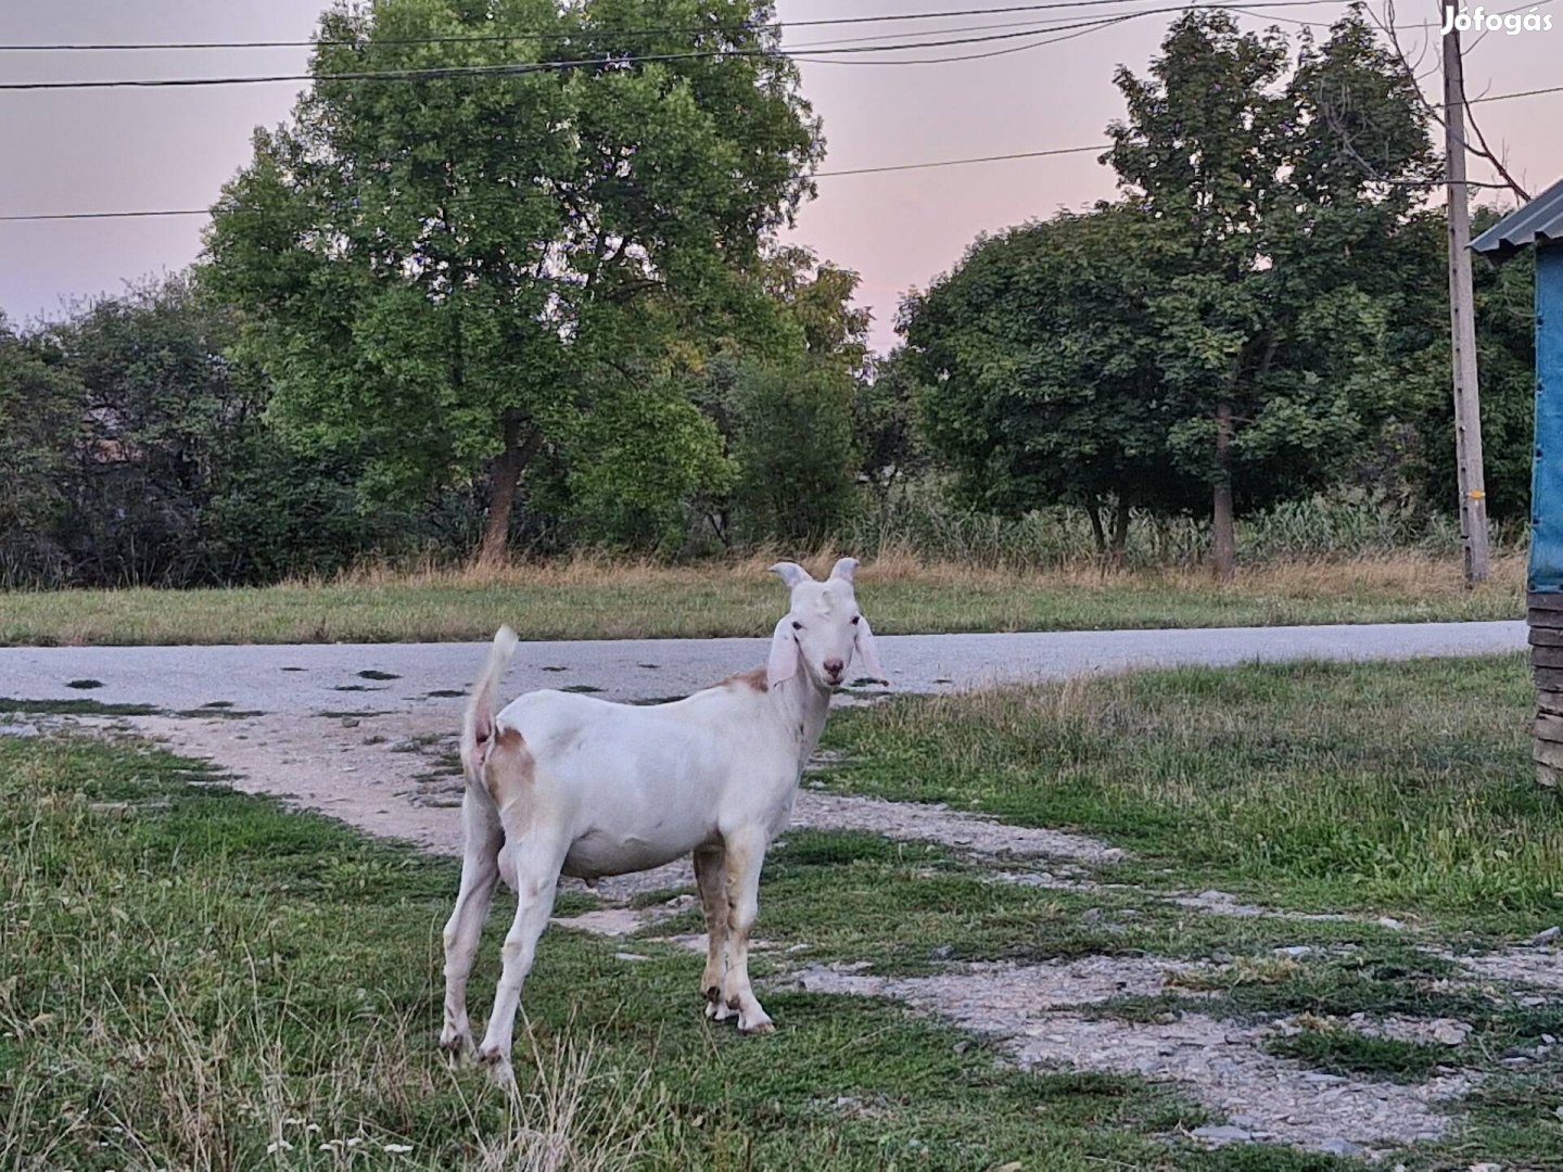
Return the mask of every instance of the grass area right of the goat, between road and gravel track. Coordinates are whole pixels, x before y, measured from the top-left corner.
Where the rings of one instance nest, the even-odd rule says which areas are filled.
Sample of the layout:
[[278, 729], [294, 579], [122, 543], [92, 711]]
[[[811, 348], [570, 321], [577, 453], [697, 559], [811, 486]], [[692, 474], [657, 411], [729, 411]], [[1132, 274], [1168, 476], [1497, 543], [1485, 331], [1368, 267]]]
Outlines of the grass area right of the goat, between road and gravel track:
[[1119, 878], [1527, 938], [1563, 920], [1563, 797], [1524, 656], [1180, 669], [841, 713], [828, 786], [1075, 827]]

